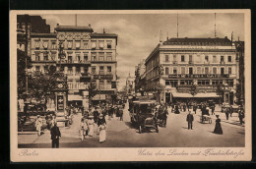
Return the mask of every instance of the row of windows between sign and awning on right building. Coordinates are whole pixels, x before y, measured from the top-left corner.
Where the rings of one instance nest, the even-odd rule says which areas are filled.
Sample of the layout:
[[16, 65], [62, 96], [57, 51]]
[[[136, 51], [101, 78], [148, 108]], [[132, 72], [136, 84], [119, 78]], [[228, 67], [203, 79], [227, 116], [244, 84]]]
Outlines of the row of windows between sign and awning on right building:
[[165, 85], [176, 87], [178, 85], [197, 84], [197, 85], [218, 85], [227, 84], [233, 86], [233, 80], [165, 80]]

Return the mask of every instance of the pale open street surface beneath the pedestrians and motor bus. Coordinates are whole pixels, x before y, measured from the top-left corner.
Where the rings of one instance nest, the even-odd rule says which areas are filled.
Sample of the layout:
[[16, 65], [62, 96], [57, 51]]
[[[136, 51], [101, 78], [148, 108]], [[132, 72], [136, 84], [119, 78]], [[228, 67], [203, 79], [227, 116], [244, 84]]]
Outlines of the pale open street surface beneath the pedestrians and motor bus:
[[[106, 141], [98, 142], [98, 135], [87, 138], [84, 141], [79, 139], [79, 123], [81, 114], [74, 116], [74, 123], [70, 128], [62, 128], [60, 147], [232, 147], [244, 146], [244, 126], [239, 125], [237, 113], [233, 113], [228, 121], [225, 120], [224, 113], [221, 115], [224, 135], [213, 133], [215, 128], [215, 115], [211, 116], [212, 124], [202, 124], [200, 122], [201, 112], [194, 114], [193, 130], [187, 130], [186, 114], [170, 113], [167, 118], [166, 128], [160, 127], [160, 133], [155, 131], [145, 131], [138, 133], [135, 126], [130, 122], [128, 104], [124, 111], [124, 121], [119, 121], [114, 117], [107, 120]], [[29, 135], [30, 134], [30, 135]], [[51, 147], [49, 131], [45, 131], [41, 137], [34, 133], [20, 134], [18, 137], [19, 147]]]

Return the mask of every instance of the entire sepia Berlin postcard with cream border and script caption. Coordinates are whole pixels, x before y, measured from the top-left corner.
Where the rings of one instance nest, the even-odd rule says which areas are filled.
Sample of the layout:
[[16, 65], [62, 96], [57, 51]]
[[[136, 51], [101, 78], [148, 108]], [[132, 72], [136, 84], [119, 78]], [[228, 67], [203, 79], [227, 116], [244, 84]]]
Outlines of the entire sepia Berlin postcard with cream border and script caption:
[[11, 161], [251, 160], [250, 22], [11, 11]]

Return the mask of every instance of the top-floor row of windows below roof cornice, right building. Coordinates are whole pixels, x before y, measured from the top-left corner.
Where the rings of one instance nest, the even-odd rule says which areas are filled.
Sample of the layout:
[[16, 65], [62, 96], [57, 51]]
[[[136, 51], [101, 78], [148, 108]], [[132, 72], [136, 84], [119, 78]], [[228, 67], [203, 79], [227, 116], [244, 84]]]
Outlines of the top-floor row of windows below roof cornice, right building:
[[[170, 61], [170, 58], [169, 58], [170, 56], [169, 55], [165, 55], [165, 62], [169, 62]], [[189, 55], [189, 62], [193, 62], [195, 59], [197, 59], [198, 61], [200, 61], [202, 58], [201, 58], [201, 55], [197, 55], [197, 58], [193, 58], [193, 55]], [[224, 63], [224, 56], [221, 56], [221, 62], [223, 62]], [[173, 55], [172, 56], [172, 61], [173, 62], [176, 62], [176, 61], [178, 61], [178, 59], [177, 59], [177, 55]], [[180, 61], [181, 62], [185, 62], [185, 55], [180, 55]], [[204, 61], [205, 62], [209, 62], [210, 61], [210, 56], [205, 56], [204, 57]], [[218, 61], [217, 61], [217, 56], [216, 55], [214, 55], [213, 56], [213, 63], [217, 63]], [[227, 62], [229, 62], [229, 63], [231, 63], [232, 62], [232, 56], [227, 56]]]

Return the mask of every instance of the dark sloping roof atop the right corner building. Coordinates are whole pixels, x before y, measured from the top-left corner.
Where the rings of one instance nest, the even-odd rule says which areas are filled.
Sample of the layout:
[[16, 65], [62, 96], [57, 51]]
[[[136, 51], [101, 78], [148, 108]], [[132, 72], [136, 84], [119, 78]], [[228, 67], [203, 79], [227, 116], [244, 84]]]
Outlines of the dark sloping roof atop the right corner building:
[[231, 41], [225, 36], [224, 38], [169, 38], [163, 42], [165, 45], [231, 45]]

